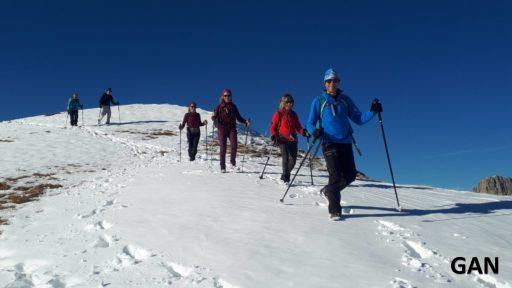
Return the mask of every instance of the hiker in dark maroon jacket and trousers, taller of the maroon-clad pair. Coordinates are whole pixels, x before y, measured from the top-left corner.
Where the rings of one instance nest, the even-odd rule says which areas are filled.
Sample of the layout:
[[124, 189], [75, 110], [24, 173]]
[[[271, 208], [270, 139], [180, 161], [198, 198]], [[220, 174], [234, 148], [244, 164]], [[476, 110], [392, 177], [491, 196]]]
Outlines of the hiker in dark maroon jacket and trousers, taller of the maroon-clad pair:
[[226, 172], [226, 148], [228, 138], [231, 145], [231, 168], [235, 169], [236, 167], [236, 152], [238, 148], [236, 121], [238, 120], [238, 122], [245, 123], [245, 126], [251, 125], [251, 121], [244, 119], [240, 115], [238, 108], [231, 101], [231, 90], [229, 89], [222, 91], [220, 104], [215, 108], [215, 111], [213, 111], [212, 120], [216, 123], [218, 128], [220, 170], [224, 173]]

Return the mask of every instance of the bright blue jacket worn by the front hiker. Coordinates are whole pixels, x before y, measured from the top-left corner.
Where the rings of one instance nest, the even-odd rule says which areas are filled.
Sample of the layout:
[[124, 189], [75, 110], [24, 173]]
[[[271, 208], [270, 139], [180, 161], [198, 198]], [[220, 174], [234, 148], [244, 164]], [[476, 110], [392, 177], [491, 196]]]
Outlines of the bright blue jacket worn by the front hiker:
[[[325, 101], [322, 117], [320, 110]], [[334, 99], [324, 90], [321, 96], [315, 97], [311, 103], [308, 117], [308, 130], [314, 131], [318, 127], [324, 128], [324, 143], [352, 143], [352, 127], [348, 119], [357, 125], [363, 125], [375, 117], [375, 112], [361, 113], [356, 104], [347, 95], [338, 90], [338, 98]]]

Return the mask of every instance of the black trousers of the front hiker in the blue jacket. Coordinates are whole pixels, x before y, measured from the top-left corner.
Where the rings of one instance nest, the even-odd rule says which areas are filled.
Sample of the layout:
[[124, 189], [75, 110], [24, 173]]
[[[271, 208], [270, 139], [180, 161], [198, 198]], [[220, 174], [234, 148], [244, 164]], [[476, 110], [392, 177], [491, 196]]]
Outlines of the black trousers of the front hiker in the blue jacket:
[[324, 193], [329, 200], [329, 213], [341, 213], [341, 190], [356, 179], [356, 165], [352, 144], [327, 143], [323, 145], [329, 183]]

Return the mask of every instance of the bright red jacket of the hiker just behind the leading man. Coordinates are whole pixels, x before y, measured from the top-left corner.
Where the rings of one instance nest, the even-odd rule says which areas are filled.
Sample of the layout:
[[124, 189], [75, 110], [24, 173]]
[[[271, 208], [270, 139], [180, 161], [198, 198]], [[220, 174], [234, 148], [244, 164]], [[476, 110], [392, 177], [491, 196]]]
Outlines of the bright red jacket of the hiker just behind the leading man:
[[303, 131], [299, 117], [293, 110], [279, 109], [272, 117], [270, 135], [279, 136], [281, 142], [297, 141], [297, 133], [302, 134]]

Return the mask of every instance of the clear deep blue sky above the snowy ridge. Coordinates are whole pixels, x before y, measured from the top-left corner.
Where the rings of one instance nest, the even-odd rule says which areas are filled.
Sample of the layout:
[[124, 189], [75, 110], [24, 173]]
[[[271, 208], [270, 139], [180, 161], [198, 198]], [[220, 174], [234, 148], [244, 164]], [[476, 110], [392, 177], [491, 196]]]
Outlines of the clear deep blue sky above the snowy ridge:
[[[278, 99], [304, 123], [329, 67], [361, 110], [373, 98], [397, 181], [471, 189], [512, 176], [508, 1], [1, 1], [0, 120], [191, 100], [223, 88], [265, 131]], [[377, 121], [354, 127], [357, 166], [389, 180]]]

